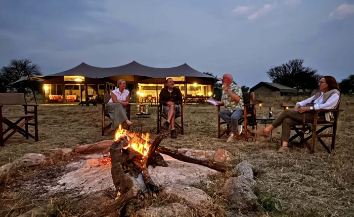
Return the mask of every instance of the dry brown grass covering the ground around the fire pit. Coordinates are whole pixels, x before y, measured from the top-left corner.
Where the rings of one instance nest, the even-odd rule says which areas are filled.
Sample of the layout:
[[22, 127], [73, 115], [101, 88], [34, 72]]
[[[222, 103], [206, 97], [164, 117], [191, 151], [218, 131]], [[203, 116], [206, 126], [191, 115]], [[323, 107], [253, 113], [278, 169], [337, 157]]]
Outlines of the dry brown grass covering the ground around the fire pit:
[[[276, 99], [265, 98], [264, 106], [272, 105], [275, 115], [281, 112], [280, 104], [293, 103], [304, 97], [279, 97]], [[235, 159], [234, 164], [247, 160], [253, 165], [256, 174], [255, 192], [261, 203], [254, 212], [242, 213], [232, 204], [226, 203], [220, 196], [223, 183], [231, 176], [224, 174], [222, 177], [212, 177], [211, 182], [196, 184], [213, 199], [213, 205], [208, 210], [194, 208], [194, 216], [353, 216], [354, 214], [354, 103], [352, 97], [343, 96], [340, 113], [340, 123], [336, 149], [328, 154], [324, 148], [317, 147], [314, 154], [306, 153], [305, 148], [294, 147], [290, 153], [276, 154], [279, 143], [268, 141], [244, 142], [242, 137], [234, 143], [226, 143], [226, 137], [217, 139], [216, 136], [216, 110], [211, 105], [185, 105], [185, 135], [179, 135], [177, 139], [165, 139], [162, 146], [188, 147], [202, 150], [216, 150], [223, 148], [230, 151]], [[19, 108], [10, 108], [7, 112], [14, 112]], [[156, 107], [151, 107], [151, 123], [156, 127]], [[258, 110], [260, 116], [268, 114], [267, 108]], [[134, 112], [131, 121], [138, 123]], [[147, 131], [146, 120], [144, 131]], [[111, 139], [112, 133], [101, 136], [101, 106], [86, 107], [78, 105], [41, 105], [39, 106], [39, 141], [24, 140], [22, 136], [13, 136], [0, 149], [0, 165], [11, 162], [24, 153], [44, 153], [49, 155], [49, 149], [58, 147], [74, 147], [77, 144], [94, 143], [104, 139]], [[280, 138], [279, 129], [274, 132], [276, 138]], [[152, 135], [154, 137], [154, 135]], [[63, 157], [52, 158], [53, 164], [65, 161]], [[52, 163], [51, 163], [52, 164]], [[20, 202], [16, 192], [11, 192], [2, 187], [6, 195], [7, 210], [25, 210], [32, 203], [31, 198]], [[8, 192], [5, 194], [5, 192]], [[13, 194], [13, 195], [11, 195]], [[59, 198], [59, 197], [58, 197]], [[65, 200], [54, 200], [56, 204], [67, 204]], [[168, 199], [166, 199], [168, 198]], [[148, 197], [145, 206], [161, 204], [164, 200], [174, 201], [173, 196], [161, 195], [157, 199]], [[57, 201], [57, 202], [56, 202]], [[17, 203], [18, 202], [18, 203]], [[129, 210], [143, 207], [132, 201]], [[17, 204], [16, 204], [17, 203]], [[75, 202], [77, 211], [72, 206], [67, 206], [61, 211], [70, 214], [82, 214], [86, 216], [95, 213], [89, 202]], [[86, 204], [86, 206], [85, 206]], [[140, 203], [139, 203], [140, 204]], [[26, 206], [27, 205], [27, 206]], [[70, 204], [71, 205], [71, 204]], [[41, 208], [50, 211], [51, 202], [46, 200]], [[47, 207], [47, 208], [46, 208]], [[280, 208], [279, 208], [280, 207]], [[95, 207], [97, 208], [97, 207]], [[192, 207], [193, 208], [193, 207]], [[280, 210], [279, 210], [280, 209]], [[70, 213], [70, 210], [75, 210]], [[22, 212], [21, 211], [21, 212]], [[11, 212], [12, 213], [12, 212]], [[13, 213], [19, 213], [13, 212]], [[86, 214], [84, 214], [86, 213]], [[91, 214], [90, 214], [91, 213]], [[6, 213], [5, 213], [6, 215]]]

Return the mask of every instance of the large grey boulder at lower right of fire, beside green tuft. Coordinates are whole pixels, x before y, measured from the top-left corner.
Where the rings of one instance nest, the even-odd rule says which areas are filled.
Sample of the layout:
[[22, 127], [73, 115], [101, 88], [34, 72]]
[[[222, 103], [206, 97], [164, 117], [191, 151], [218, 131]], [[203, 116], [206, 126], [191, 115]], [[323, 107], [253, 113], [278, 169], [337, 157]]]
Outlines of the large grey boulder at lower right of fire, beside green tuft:
[[245, 176], [231, 177], [223, 188], [224, 197], [237, 207], [252, 211], [258, 206], [257, 196]]

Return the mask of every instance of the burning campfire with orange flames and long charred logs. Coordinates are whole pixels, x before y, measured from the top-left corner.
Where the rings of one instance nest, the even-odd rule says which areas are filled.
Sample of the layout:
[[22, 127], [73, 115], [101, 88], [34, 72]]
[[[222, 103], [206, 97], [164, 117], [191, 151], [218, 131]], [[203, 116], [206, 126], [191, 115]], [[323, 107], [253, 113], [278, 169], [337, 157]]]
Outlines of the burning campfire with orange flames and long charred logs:
[[100, 160], [100, 166], [111, 165], [112, 179], [117, 189], [117, 197], [109, 205], [107, 212], [120, 213], [126, 203], [137, 196], [137, 192], [132, 188], [131, 176], [137, 178], [139, 174], [142, 174], [149, 192], [158, 193], [161, 190], [161, 186], [152, 181], [147, 170], [149, 165], [167, 167], [167, 163], [160, 153], [217, 171], [224, 172], [230, 169], [220, 162], [194, 159], [179, 153], [176, 149], [159, 146], [167, 136], [169, 136], [169, 132], [160, 133], [151, 143], [148, 133], [136, 134], [123, 129], [121, 126], [118, 127], [114, 135], [114, 142], [110, 147], [110, 155]]

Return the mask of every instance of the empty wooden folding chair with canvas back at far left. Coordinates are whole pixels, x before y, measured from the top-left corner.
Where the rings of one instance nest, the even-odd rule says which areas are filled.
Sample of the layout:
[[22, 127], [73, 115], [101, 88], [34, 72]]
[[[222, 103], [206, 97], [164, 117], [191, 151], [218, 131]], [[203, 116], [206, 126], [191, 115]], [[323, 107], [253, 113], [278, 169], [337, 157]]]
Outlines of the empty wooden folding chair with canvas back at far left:
[[[5, 116], [2, 110], [3, 105], [22, 105], [24, 114]], [[28, 111], [28, 106], [33, 107], [33, 110]], [[0, 146], [3, 146], [16, 132], [23, 135], [26, 139], [31, 137], [38, 141], [37, 106], [27, 105], [23, 93], [0, 93]], [[33, 122], [30, 122], [32, 120]], [[8, 126], [6, 130], [3, 129], [3, 124]], [[25, 129], [22, 128], [23, 126], [25, 126]], [[34, 126], [34, 135], [29, 133], [28, 126]]]

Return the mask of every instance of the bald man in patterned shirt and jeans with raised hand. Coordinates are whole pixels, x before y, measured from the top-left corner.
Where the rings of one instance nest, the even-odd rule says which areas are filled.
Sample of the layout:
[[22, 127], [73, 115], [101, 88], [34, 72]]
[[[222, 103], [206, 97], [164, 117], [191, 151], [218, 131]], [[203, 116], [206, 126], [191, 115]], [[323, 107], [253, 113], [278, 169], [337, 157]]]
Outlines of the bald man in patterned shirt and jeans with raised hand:
[[234, 83], [231, 74], [223, 75], [223, 95], [218, 104], [224, 105], [225, 110], [219, 112], [219, 117], [231, 126], [231, 134], [226, 142], [233, 142], [236, 133], [242, 133], [242, 125], [238, 124], [238, 119], [243, 115], [242, 90]]

